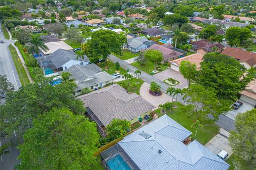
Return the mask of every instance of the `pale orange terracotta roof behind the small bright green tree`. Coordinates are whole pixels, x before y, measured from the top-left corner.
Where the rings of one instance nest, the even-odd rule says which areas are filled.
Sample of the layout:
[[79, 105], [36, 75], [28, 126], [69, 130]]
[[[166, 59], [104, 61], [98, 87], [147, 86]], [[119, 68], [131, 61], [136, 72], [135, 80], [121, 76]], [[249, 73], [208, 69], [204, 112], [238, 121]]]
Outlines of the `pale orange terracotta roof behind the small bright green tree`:
[[178, 66], [180, 66], [180, 63], [182, 61], [190, 61], [191, 63], [195, 63], [196, 64], [196, 67], [197, 68], [200, 68], [200, 63], [203, 61], [203, 54], [200, 54], [200, 53], [196, 53], [196, 54], [191, 54], [191, 55], [188, 55], [188, 56], [184, 56], [182, 58], [179, 58], [179, 59], [176, 59], [176, 60], [173, 60], [173, 61], [170, 61], [170, 63], [176, 63], [178, 64]]

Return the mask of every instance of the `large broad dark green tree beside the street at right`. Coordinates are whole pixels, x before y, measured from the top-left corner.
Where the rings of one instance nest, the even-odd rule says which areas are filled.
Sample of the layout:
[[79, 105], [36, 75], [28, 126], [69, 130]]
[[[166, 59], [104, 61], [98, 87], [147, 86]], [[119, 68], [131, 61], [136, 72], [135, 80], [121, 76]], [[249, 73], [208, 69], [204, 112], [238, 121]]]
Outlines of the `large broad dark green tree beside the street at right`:
[[236, 100], [237, 94], [253, 79], [253, 70], [247, 70], [234, 58], [218, 53], [207, 53], [197, 74], [197, 83], [213, 88], [220, 99]]

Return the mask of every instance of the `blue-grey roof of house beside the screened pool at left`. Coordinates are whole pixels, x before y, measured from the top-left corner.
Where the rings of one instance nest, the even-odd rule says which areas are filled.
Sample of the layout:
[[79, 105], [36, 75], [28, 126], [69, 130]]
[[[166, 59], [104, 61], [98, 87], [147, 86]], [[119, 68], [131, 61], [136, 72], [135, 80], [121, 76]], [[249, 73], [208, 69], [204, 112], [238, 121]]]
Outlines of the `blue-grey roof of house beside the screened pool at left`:
[[[41, 59], [42, 61], [51, 61], [56, 68], [59, 68], [70, 60], [76, 60], [76, 53], [70, 50], [59, 49], [50, 55], [43, 56]], [[84, 59], [82, 59], [82, 61], [88, 62], [90, 60], [86, 55], [84, 55]]]

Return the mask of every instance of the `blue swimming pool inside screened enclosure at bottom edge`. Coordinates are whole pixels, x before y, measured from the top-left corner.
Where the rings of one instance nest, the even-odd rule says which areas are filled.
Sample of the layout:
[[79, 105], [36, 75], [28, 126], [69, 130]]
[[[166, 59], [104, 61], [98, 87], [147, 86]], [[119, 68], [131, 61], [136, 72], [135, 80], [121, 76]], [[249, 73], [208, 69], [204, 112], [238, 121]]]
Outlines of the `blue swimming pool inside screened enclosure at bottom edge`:
[[[123, 163], [122, 163], [123, 162]], [[131, 170], [130, 166], [124, 161], [121, 155], [117, 155], [107, 161], [111, 170]]]

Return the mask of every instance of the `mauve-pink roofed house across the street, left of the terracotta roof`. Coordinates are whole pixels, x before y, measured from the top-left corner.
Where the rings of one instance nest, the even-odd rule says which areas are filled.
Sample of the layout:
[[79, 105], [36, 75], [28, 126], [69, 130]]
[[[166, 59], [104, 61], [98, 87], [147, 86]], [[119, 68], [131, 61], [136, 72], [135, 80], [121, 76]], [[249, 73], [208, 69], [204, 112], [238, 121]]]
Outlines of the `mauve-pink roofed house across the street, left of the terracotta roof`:
[[171, 61], [171, 60], [178, 59], [182, 55], [182, 53], [180, 53], [180, 52], [173, 51], [170, 48], [167, 48], [167, 47], [162, 46], [162, 45], [157, 45], [157, 44], [153, 44], [148, 49], [159, 50], [160, 52], [162, 52], [162, 54], [164, 56], [163, 57], [163, 62], [168, 62], [168, 61]]

